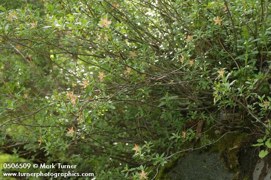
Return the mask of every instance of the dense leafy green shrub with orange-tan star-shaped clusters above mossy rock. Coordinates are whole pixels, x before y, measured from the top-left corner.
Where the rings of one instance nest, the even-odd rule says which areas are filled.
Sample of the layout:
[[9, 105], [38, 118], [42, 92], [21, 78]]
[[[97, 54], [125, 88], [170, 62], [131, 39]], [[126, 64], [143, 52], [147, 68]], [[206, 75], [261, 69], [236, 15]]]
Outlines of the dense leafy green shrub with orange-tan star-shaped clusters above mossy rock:
[[263, 157], [270, 34], [268, 0], [4, 1], [1, 151], [151, 179], [237, 112], [226, 130], [256, 136]]

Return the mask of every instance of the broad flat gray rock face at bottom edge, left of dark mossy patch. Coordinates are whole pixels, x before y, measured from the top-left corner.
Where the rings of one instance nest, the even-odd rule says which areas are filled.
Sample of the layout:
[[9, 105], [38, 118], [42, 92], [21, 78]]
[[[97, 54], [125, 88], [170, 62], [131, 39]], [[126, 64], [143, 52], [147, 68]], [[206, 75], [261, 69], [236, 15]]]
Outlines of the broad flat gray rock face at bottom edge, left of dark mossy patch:
[[218, 153], [192, 152], [180, 158], [169, 172], [168, 180], [231, 180], [234, 173], [228, 172]]

